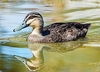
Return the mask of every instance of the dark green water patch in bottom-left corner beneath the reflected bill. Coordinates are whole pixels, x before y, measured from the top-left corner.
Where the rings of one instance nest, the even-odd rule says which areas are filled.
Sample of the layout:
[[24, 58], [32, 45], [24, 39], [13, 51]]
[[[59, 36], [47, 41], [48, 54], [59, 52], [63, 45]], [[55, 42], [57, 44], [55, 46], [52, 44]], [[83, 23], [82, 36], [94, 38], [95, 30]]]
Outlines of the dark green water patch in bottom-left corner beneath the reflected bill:
[[[17, 68], [17, 69], [16, 69]], [[20, 64], [14, 56], [0, 54], [0, 71], [1, 72], [27, 72], [26, 68]]]

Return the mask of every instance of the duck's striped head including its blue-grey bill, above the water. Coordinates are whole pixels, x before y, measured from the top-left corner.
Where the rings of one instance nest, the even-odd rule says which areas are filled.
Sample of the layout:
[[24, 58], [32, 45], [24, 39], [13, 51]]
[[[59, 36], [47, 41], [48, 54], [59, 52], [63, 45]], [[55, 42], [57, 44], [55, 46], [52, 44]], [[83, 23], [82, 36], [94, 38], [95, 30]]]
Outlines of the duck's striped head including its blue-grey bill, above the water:
[[22, 24], [16, 29], [14, 29], [13, 31], [14, 32], [20, 31], [28, 26], [31, 26], [33, 28], [43, 27], [43, 24], [44, 24], [44, 21], [43, 21], [43, 17], [41, 16], [41, 14], [39, 14], [38, 12], [31, 12], [27, 14]]

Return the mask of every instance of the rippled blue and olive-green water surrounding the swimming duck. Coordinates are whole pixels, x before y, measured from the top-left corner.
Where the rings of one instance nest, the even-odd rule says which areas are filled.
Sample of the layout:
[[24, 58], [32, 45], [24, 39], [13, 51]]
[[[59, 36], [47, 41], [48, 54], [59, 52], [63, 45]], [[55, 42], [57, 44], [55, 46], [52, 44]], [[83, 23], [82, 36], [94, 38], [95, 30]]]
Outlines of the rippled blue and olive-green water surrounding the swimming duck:
[[[77, 21], [90, 22], [92, 27], [83, 40], [28, 44], [26, 37], [32, 30], [30, 27], [16, 33], [12, 30], [31, 11], [43, 15], [45, 26], [53, 22]], [[37, 72], [100, 72], [99, 19], [98, 0], [0, 1], [0, 72], [28, 72], [24, 58], [27, 64], [37, 66], [29, 68]]]

